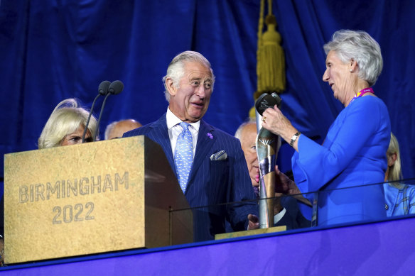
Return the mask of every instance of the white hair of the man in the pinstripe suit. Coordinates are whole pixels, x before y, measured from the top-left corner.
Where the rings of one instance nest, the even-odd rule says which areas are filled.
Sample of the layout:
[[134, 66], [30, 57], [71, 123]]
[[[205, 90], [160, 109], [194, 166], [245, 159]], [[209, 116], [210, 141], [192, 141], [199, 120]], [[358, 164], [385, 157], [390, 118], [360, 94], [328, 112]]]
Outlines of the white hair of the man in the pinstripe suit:
[[171, 60], [170, 64], [167, 67], [167, 74], [163, 77], [163, 85], [164, 85], [164, 96], [166, 96], [166, 100], [170, 102], [170, 94], [168, 93], [168, 89], [166, 87], [166, 79], [170, 77], [173, 80], [173, 86], [178, 88], [180, 86], [179, 82], [180, 79], [185, 74], [185, 62], [198, 62], [205, 67], [210, 69], [212, 72], [212, 91], [213, 91], [213, 84], [215, 83], [215, 75], [213, 74], [212, 67], [210, 67], [209, 60], [206, 59], [202, 54], [194, 51], [185, 51], [176, 55], [176, 57]]

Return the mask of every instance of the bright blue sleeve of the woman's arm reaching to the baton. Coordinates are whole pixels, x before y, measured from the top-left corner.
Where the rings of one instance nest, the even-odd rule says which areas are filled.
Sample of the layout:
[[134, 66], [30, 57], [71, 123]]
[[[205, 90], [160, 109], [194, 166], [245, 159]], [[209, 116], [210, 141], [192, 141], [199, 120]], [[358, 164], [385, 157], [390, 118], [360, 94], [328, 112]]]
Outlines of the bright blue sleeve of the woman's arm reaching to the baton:
[[[293, 174], [301, 192], [314, 192], [345, 170], [379, 129], [381, 101], [362, 97], [347, 106], [330, 127], [323, 145], [301, 135], [293, 155]], [[385, 151], [386, 153], [386, 151]], [[307, 182], [307, 184], [302, 184]]]

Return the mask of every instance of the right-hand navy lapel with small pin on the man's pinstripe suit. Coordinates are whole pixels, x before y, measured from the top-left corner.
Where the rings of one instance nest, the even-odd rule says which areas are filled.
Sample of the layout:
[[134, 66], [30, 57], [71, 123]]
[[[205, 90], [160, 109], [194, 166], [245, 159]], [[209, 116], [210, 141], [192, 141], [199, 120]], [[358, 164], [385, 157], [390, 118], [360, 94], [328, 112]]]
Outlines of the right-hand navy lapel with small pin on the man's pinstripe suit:
[[192, 182], [193, 177], [195, 177], [198, 168], [202, 165], [203, 160], [205, 160], [206, 155], [208, 155], [210, 148], [212, 148], [212, 145], [215, 143], [215, 140], [216, 137], [212, 126], [205, 123], [205, 121], [200, 120], [198, 143], [196, 143], [195, 159], [193, 160], [188, 184]]

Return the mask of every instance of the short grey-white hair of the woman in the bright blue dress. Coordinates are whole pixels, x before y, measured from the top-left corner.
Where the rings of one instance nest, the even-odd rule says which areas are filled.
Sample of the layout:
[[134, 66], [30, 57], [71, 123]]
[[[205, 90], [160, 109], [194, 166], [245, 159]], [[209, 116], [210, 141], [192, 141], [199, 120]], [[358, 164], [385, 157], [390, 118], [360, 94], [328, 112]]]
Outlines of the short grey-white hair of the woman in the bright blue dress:
[[383, 60], [379, 44], [365, 31], [340, 30], [323, 46], [325, 55], [333, 50], [343, 62], [355, 60], [358, 76], [373, 86], [382, 72]]

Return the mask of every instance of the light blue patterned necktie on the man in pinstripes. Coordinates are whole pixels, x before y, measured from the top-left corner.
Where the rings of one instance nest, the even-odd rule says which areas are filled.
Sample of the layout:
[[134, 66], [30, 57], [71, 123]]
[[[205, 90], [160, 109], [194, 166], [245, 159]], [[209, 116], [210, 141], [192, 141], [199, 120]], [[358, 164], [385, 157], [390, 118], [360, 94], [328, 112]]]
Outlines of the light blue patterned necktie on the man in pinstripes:
[[184, 194], [186, 185], [188, 184], [190, 169], [193, 164], [193, 139], [192, 133], [189, 130], [189, 123], [181, 122], [180, 126], [183, 128], [183, 131], [177, 138], [174, 162], [176, 163], [178, 183]]

